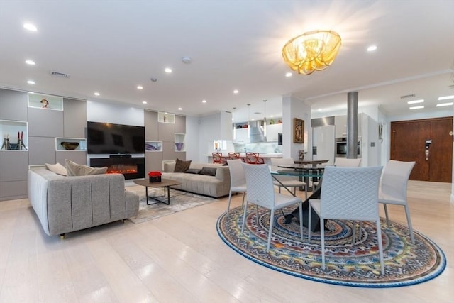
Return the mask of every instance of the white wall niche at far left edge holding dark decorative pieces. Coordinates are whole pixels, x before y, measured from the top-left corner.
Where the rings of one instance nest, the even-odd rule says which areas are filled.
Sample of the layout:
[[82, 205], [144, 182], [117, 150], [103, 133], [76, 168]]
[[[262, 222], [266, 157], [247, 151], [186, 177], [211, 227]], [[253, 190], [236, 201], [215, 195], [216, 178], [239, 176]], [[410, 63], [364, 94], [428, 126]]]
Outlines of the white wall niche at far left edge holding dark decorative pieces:
[[0, 150], [28, 150], [28, 123], [26, 121], [0, 120]]

